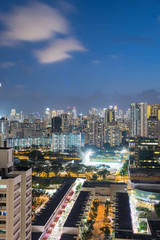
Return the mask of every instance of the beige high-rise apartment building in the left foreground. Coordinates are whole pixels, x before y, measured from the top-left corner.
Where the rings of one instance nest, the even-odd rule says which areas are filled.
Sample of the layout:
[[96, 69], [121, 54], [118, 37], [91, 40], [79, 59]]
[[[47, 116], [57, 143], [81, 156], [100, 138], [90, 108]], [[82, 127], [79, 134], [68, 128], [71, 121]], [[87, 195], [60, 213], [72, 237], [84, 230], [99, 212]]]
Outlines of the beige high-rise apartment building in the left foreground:
[[0, 239], [31, 240], [32, 170], [14, 171], [13, 151], [0, 148]]

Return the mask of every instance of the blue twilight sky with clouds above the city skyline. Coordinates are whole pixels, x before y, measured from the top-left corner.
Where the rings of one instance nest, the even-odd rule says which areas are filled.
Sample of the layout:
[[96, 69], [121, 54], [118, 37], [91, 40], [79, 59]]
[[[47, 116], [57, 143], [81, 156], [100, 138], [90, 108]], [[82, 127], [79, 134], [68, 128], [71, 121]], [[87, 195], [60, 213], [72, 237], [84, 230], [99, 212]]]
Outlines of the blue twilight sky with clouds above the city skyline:
[[160, 102], [160, 0], [1, 0], [0, 114]]

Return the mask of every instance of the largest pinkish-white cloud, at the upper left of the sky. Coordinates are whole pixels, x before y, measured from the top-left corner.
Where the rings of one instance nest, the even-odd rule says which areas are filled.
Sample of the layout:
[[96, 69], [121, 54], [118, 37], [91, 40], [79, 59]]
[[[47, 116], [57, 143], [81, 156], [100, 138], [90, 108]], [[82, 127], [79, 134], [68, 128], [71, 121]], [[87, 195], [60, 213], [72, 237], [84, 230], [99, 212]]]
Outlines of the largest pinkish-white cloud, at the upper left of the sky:
[[1, 14], [0, 21], [6, 27], [0, 32], [2, 45], [14, 45], [17, 41], [42, 41], [69, 32], [68, 21], [61, 13], [40, 2], [16, 6], [10, 13]]

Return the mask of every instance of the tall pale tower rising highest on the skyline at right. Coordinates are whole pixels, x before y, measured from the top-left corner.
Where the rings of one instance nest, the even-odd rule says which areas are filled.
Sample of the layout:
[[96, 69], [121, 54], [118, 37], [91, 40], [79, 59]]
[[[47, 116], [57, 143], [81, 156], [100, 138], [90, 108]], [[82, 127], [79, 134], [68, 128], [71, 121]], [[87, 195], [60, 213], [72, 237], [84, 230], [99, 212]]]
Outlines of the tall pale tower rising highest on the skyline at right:
[[147, 103], [131, 104], [131, 137], [147, 137]]

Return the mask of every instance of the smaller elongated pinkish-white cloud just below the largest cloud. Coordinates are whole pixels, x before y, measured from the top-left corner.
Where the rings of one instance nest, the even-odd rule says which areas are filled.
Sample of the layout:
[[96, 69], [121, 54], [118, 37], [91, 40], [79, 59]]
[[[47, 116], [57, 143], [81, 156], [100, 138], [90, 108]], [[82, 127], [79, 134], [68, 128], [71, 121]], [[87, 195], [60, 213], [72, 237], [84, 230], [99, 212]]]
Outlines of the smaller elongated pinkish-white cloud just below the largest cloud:
[[86, 49], [74, 38], [57, 39], [53, 44], [43, 50], [35, 51], [35, 56], [40, 63], [54, 63], [72, 58], [70, 52], [86, 51]]

